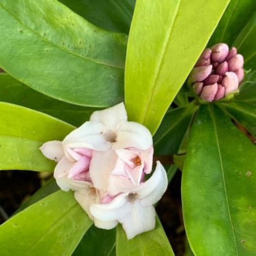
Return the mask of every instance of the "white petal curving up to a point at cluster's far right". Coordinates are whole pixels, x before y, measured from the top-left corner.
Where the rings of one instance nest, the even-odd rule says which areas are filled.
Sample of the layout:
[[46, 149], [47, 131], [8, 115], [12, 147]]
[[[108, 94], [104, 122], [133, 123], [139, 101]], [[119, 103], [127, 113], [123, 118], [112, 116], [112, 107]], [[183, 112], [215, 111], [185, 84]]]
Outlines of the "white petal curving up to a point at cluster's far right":
[[159, 161], [156, 162], [156, 170], [152, 177], [134, 189], [133, 193], [139, 195], [141, 205], [153, 205], [160, 200], [168, 186], [166, 171]]

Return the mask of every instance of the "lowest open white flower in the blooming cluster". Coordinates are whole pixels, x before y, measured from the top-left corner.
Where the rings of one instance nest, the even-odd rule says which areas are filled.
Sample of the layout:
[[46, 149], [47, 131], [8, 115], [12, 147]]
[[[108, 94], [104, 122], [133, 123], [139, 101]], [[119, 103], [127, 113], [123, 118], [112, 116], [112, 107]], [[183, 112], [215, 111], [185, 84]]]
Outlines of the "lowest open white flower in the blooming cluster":
[[[119, 177], [122, 179], [121, 177]], [[123, 178], [127, 179], [127, 178]], [[124, 181], [129, 186], [129, 181]], [[166, 172], [160, 162], [157, 162], [156, 170], [152, 177], [139, 186], [125, 193], [121, 193], [113, 201], [107, 204], [93, 203], [90, 212], [102, 223], [118, 221], [123, 225], [127, 238], [131, 239], [141, 232], [146, 232], [155, 227], [156, 203], [166, 191], [168, 185]], [[95, 223], [98, 228], [100, 224]], [[106, 225], [104, 225], [106, 228]]]

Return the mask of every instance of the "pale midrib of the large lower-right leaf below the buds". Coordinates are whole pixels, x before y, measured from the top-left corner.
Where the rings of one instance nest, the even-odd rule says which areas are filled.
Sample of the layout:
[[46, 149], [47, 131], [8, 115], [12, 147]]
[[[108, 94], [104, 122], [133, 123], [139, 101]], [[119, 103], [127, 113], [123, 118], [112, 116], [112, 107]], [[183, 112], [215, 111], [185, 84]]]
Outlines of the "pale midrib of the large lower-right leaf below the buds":
[[212, 110], [212, 106], [208, 105], [208, 110], [209, 110], [209, 113], [210, 113], [210, 115], [212, 117], [212, 123], [214, 124], [214, 134], [215, 134], [215, 137], [216, 137], [218, 154], [219, 154], [219, 158], [220, 158], [220, 166], [221, 166], [221, 169], [222, 169], [222, 181], [223, 181], [223, 185], [224, 185], [224, 191], [225, 191], [225, 197], [226, 197], [226, 205], [228, 206], [227, 207], [228, 217], [229, 217], [230, 225], [231, 225], [231, 228], [232, 228], [232, 234], [233, 234], [233, 238], [234, 238], [234, 245], [235, 245], [235, 248], [236, 248], [236, 255], [238, 255], [238, 249], [237, 249], [237, 244], [236, 244], [236, 236], [234, 234], [234, 226], [233, 226], [231, 215], [230, 215], [230, 210], [229, 210], [230, 207], [229, 207], [229, 203], [228, 203], [228, 195], [227, 195], [227, 192], [226, 192], [226, 182], [225, 182], [225, 177], [224, 177], [224, 169], [223, 169], [223, 165], [222, 165], [222, 154], [220, 152], [220, 143], [219, 143], [218, 134], [217, 134], [216, 120], [215, 120], [215, 117], [214, 117], [214, 113], [212, 113], [212, 111], [213, 111]]

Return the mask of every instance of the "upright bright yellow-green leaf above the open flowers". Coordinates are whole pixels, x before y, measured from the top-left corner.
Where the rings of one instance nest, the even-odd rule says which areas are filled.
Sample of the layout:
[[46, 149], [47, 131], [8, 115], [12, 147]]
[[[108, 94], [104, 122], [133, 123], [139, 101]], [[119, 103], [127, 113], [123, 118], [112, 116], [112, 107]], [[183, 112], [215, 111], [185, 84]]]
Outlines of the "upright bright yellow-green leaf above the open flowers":
[[137, 0], [125, 64], [125, 103], [131, 120], [155, 133], [227, 4]]

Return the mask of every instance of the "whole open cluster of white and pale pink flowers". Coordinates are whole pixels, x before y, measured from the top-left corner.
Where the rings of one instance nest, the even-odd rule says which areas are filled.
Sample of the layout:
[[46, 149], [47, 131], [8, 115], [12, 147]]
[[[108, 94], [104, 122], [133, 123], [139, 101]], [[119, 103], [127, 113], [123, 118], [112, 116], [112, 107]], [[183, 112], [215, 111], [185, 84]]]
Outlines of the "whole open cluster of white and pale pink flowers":
[[46, 142], [40, 150], [57, 162], [57, 184], [75, 191], [95, 226], [111, 229], [120, 222], [129, 239], [154, 229], [153, 205], [166, 190], [166, 172], [157, 162], [144, 181], [152, 171], [152, 135], [127, 121], [123, 103], [92, 113], [63, 141]]

